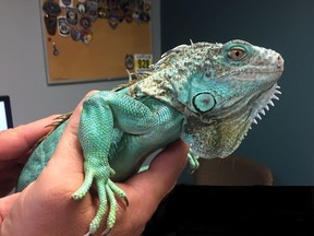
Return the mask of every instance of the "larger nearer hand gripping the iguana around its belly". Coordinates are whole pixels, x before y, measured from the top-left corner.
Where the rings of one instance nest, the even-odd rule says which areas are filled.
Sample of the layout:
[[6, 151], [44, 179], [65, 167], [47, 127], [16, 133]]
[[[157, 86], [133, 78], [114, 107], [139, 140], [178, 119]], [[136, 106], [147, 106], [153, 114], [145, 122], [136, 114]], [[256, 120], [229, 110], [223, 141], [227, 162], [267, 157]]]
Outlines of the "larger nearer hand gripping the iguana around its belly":
[[[22, 192], [0, 200], [0, 235], [76, 236], [88, 231], [98, 208], [96, 191], [90, 190], [78, 201], [71, 199], [84, 179], [83, 154], [77, 139], [81, 109], [82, 103], [71, 116], [53, 156], [38, 179]], [[4, 139], [1, 143], [7, 142]], [[186, 153], [188, 146], [177, 141], [158, 154], [149, 169], [118, 184], [128, 194], [129, 206], [117, 199], [117, 223], [110, 236], [141, 235], [184, 168]], [[106, 221], [98, 233], [105, 228]]]

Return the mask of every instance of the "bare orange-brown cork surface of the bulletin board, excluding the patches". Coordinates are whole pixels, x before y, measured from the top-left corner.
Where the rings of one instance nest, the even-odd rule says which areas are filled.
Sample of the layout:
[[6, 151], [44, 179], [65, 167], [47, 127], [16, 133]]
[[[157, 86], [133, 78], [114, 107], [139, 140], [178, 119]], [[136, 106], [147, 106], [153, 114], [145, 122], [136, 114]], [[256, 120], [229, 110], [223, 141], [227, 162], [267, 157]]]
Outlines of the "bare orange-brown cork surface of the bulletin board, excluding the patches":
[[[137, 63], [132, 61], [134, 58], [137, 58], [138, 55], [146, 58], [147, 55], [152, 56], [150, 21], [141, 23], [122, 21], [116, 28], [112, 28], [107, 19], [97, 19], [92, 22], [89, 27], [92, 40], [84, 43], [83, 40], [73, 40], [71, 35], [60, 35], [59, 23], [57, 33], [48, 34], [45, 25], [45, 15], [47, 16], [47, 14], [43, 11], [45, 1], [39, 0], [48, 84], [126, 78], [128, 70], [131, 72], [136, 70], [133, 64]], [[75, 9], [77, 2], [72, 1]], [[57, 3], [58, 0], [55, 2]], [[60, 9], [59, 16], [67, 15], [67, 8], [61, 7]], [[129, 67], [126, 66], [128, 58]], [[152, 58], [153, 56], [149, 57], [149, 63]]]

